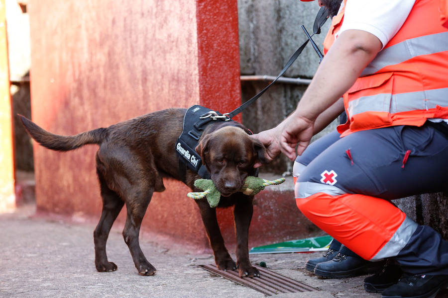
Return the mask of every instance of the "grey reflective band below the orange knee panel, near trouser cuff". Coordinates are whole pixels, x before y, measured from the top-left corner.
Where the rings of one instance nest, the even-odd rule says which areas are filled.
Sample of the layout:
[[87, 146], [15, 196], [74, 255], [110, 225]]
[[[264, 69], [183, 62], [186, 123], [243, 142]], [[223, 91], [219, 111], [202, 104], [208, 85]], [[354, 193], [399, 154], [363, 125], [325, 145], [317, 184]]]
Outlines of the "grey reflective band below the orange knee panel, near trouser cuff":
[[387, 241], [386, 245], [380, 249], [371, 261], [397, 256], [403, 247], [405, 247], [405, 245], [409, 242], [409, 239], [411, 239], [411, 236], [414, 234], [417, 226], [418, 224], [406, 217], [400, 227], [398, 227], [395, 231], [392, 238]]

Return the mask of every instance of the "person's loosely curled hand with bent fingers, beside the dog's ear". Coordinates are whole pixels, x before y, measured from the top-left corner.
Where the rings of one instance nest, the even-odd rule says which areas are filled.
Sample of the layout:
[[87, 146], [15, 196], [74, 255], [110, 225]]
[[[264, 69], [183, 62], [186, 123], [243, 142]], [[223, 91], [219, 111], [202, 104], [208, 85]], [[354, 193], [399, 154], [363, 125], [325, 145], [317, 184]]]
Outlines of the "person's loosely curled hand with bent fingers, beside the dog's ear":
[[281, 126], [279, 135], [280, 150], [289, 159], [294, 161], [297, 155], [302, 155], [303, 151], [310, 144], [314, 132], [314, 120], [307, 119], [297, 112], [291, 114], [278, 127]]

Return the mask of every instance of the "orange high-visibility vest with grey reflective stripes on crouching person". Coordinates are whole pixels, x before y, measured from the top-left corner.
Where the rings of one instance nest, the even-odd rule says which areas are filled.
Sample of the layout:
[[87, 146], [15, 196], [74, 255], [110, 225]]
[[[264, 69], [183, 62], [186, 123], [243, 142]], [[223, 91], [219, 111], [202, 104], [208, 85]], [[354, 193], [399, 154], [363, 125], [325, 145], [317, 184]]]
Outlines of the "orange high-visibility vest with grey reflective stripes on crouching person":
[[[346, 1], [332, 20], [324, 53], [340, 29]], [[397, 34], [344, 94], [348, 121], [337, 128], [341, 137], [448, 119], [448, 28], [441, 25], [439, 1], [416, 0]]]

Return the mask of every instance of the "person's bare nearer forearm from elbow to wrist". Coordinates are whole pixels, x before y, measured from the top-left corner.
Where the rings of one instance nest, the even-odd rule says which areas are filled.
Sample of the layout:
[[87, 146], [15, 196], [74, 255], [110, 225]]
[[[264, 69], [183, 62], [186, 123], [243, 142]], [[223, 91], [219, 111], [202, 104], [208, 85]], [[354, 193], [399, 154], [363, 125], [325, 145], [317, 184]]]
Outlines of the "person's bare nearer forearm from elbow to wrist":
[[294, 117], [315, 122], [359, 77], [381, 50], [374, 35], [361, 30], [342, 32], [322, 60], [311, 84], [294, 111]]

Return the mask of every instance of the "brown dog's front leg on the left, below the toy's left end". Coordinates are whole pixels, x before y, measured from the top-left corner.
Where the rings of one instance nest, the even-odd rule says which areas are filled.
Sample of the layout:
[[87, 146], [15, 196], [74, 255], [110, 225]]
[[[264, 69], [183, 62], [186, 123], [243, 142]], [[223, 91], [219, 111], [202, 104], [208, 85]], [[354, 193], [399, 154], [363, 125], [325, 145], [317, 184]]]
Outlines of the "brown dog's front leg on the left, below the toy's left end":
[[216, 218], [215, 208], [210, 208], [207, 200], [195, 200], [199, 206], [202, 221], [204, 223], [210, 246], [215, 255], [216, 266], [220, 270], [235, 270], [235, 261], [230, 257], [224, 245], [224, 239], [221, 234], [220, 226]]

